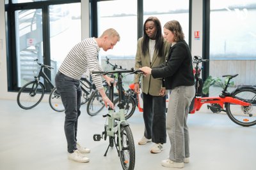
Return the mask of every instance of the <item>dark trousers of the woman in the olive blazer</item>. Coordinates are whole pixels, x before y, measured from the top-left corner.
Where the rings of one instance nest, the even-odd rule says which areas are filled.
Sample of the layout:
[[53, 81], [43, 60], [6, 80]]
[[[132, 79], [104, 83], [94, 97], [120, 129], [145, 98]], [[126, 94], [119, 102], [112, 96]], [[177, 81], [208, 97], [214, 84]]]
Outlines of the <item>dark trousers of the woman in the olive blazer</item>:
[[144, 136], [154, 143], [166, 143], [166, 97], [143, 93]]

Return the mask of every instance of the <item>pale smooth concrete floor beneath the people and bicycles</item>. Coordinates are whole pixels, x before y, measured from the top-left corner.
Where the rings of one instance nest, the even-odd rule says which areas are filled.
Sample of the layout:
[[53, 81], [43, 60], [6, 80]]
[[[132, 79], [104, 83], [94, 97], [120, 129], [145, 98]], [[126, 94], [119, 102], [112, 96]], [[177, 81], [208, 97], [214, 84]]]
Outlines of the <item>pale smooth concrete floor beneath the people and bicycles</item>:
[[[115, 148], [104, 157], [108, 141], [93, 141], [93, 134], [103, 131], [102, 113], [90, 117], [82, 106], [78, 141], [92, 150], [90, 162], [81, 164], [67, 159], [67, 143], [63, 131], [64, 113], [40, 103], [22, 110], [16, 101], [0, 100], [0, 169], [1, 170], [79, 170], [122, 169]], [[187, 170], [254, 170], [256, 168], [256, 126], [241, 127], [225, 114], [211, 113], [203, 106], [189, 115], [190, 163]], [[106, 111], [106, 109], [104, 109]], [[143, 136], [142, 113], [136, 109], [129, 118], [136, 146], [136, 170], [170, 169], [161, 166], [168, 157], [170, 142], [158, 154], [150, 153], [152, 143], [139, 146]]]

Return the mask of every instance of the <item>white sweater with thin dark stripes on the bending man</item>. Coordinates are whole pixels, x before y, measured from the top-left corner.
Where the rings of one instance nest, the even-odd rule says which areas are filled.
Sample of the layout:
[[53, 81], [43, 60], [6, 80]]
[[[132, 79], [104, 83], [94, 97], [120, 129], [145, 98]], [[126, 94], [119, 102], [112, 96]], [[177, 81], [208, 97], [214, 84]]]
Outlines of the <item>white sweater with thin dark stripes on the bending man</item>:
[[[65, 76], [79, 80], [83, 73], [89, 71], [103, 71], [99, 65], [97, 56], [99, 46], [95, 38], [86, 38], [80, 43], [77, 43], [67, 57], [63, 60], [59, 71]], [[92, 74], [92, 80], [95, 83], [97, 90], [103, 89], [101, 76]]]

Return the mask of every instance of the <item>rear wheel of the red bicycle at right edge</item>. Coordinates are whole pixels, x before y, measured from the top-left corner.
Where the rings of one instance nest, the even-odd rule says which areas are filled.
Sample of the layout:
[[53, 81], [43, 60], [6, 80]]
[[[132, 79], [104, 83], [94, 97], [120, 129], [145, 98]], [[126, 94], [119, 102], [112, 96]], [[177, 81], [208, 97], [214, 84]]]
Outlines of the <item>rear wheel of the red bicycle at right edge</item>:
[[256, 124], [256, 91], [250, 89], [239, 90], [233, 94], [234, 98], [252, 104], [241, 106], [239, 104], [226, 103], [228, 117], [238, 125], [252, 126]]

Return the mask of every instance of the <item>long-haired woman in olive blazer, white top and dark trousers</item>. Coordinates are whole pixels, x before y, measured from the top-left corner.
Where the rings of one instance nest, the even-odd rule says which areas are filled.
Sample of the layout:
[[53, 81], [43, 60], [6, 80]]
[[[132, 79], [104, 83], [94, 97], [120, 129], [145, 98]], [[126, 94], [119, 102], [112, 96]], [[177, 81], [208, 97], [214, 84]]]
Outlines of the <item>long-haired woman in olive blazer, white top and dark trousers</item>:
[[[170, 44], [164, 41], [161, 24], [158, 18], [149, 17], [143, 25], [143, 37], [138, 39], [135, 69], [143, 66], [156, 67], [164, 63]], [[135, 92], [140, 92], [140, 75], [135, 74]], [[143, 119], [145, 131], [143, 138], [138, 142], [145, 145], [152, 141], [155, 143], [151, 153], [160, 153], [163, 143], [166, 143], [166, 97], [162, 87], [162, 78], [143, 76]]]

